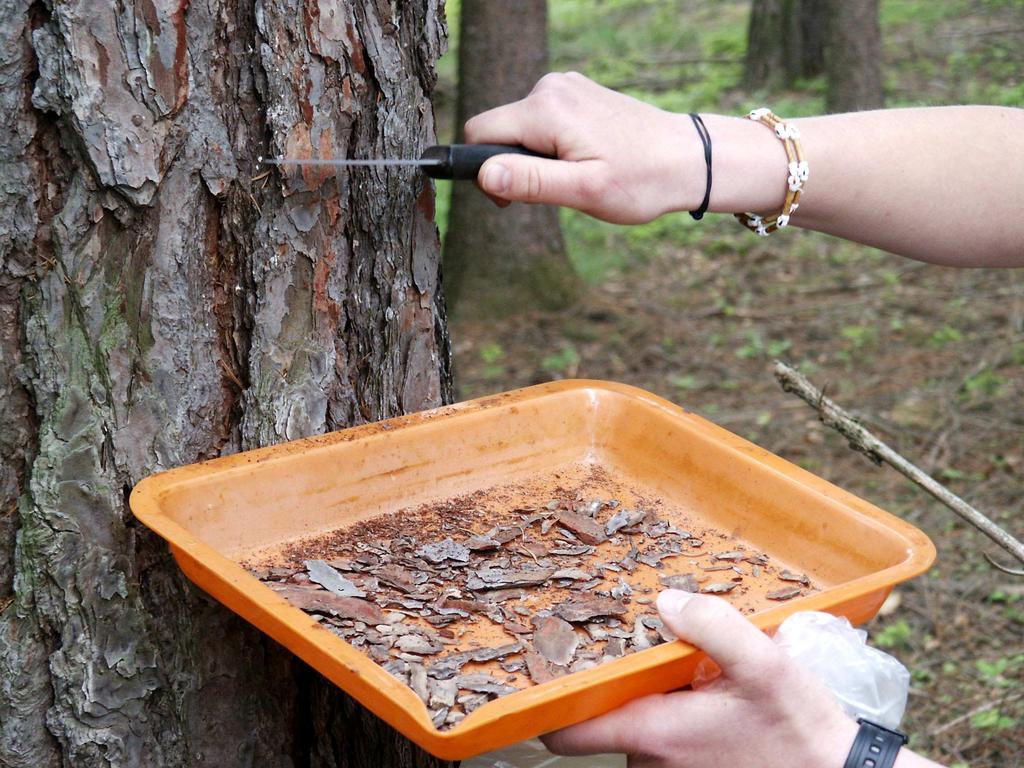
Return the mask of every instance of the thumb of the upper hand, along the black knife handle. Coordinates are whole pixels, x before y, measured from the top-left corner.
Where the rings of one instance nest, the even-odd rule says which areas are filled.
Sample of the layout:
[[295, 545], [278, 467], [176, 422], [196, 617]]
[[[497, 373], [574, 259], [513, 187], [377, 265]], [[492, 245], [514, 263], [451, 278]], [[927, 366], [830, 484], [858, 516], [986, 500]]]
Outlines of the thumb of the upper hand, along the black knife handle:
[[477, 181], [488, 195], [520, 203], [586, 209], [599, 197], [603, 164], [498, 155], [480, 167]]

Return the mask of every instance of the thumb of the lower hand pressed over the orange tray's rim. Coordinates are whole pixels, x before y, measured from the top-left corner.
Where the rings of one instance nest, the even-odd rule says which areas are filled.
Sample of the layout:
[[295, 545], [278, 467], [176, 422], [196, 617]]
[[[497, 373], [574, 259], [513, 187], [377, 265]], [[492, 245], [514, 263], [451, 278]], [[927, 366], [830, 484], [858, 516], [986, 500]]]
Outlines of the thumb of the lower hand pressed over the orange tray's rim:
[[756, 682], [765, 679], [781, 653], [767, 635], [725, 600], [666, 590], [657, 596], [662, 621], [677, 637], [700, 648], [726, 677]]

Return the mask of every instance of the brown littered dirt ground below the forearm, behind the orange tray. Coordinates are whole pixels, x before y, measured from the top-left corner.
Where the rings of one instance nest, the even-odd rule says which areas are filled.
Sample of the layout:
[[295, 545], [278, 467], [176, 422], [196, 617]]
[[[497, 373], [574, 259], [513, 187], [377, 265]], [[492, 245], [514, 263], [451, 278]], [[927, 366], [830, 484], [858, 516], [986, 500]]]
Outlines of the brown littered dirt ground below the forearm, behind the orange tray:
[[868, 627], [911, 670], [911, 745], [945, 765], [1024, 765], [1024, 578], [992, 568], [983, 553], [1009, 558], [771, 375], [774, 358], [798, 366], [1022, 536], [1024, 271], [924, 265], [804, 232], [721, 242], [658, 248], [562, 312], [457, 321], [460, 399], [563, 377], [626, 382], [920, 526], [935, 566]]

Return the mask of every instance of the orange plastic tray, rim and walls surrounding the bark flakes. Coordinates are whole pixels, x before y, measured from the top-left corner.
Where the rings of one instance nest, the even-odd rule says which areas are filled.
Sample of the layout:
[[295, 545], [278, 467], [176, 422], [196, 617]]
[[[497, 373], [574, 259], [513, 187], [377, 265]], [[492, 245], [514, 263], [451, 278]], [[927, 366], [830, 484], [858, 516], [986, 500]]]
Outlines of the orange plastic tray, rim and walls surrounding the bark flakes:
[[887, 512], [678, 406], [600, 381], [543, 384], [181, 467], [140, 482], [131, 508], [199, 587], [427, 751], [460, 760], [683, 686], [700, 654], [658, 645], [498, 698], [441, 732], [411, 688], [240, 563], [377, 515], [580, 466], [807, 572], [820, 591], [759, 606], [751, 620], [762, 629], [797, 610], [867, 621], [894, 584], [935, 557], [923, 532]]

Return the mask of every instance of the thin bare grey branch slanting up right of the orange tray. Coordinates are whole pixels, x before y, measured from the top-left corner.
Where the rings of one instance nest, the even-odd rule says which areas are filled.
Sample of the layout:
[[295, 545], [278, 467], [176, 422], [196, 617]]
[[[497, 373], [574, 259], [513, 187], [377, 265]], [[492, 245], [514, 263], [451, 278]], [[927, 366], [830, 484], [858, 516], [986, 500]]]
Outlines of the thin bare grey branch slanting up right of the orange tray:
[[[799, 371], [779, 360], [775, 361], [775, 378], [786, 392], [793, 392], [804, 402], [818, 412], [818, 419], [826, 427], [831, 427], [850, 441], [850, 447], [864, 454], [876, 464], [888, 464], [904, 477], [912, 480], [937, 500], [949, 507], [967, 522], [981, 530], [985, 536], [1002, 547], [1021, 563], [1024, 563], [1024, 543], [1014, 538], [1010, 532], [996, 525], [987, 516], [976, 510], [958, 496], [953, 494], [931, 475], [914, 464], [904, 459], [889, 445], [865, 429], [850, 414], [825, 397], [824, 393], [815, 387]], [[1014, 575], [1024, 575], [1024, 570], [1016, 570], [999, 565], [992, 558], [986, 559], [999, 570]]]

